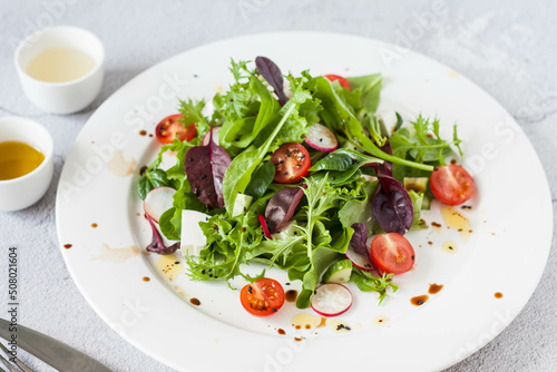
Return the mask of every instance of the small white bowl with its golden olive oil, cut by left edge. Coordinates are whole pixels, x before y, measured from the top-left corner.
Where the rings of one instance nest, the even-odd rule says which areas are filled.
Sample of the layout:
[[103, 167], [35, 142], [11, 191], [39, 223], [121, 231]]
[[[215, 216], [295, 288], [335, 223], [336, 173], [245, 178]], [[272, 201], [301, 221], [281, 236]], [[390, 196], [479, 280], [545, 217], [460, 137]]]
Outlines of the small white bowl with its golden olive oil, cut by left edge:
[[28, 118], [0, 118], [0, 211], [19, 211], [37, 203], [52, 174], [50, 133]]

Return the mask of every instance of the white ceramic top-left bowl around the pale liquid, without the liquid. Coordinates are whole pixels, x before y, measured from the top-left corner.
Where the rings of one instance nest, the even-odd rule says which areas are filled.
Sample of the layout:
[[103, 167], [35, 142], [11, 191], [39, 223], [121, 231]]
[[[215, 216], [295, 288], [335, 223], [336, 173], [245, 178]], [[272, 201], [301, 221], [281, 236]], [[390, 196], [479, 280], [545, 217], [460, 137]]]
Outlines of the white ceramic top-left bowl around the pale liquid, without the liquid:
[[[29, 62], [52, 48], [80, 50], [95, 60], [95, 67], [87, 75], [65, 82], [30, 77], [26, 72]], [[28, 36], [16, 50], [14, 61], [23, 91], [31, 102], [52, 114], [71, 114], [84, 109], [98, 96], [105, 75], [105, 47], [87, 30], [70, 26], [52, 27]]]

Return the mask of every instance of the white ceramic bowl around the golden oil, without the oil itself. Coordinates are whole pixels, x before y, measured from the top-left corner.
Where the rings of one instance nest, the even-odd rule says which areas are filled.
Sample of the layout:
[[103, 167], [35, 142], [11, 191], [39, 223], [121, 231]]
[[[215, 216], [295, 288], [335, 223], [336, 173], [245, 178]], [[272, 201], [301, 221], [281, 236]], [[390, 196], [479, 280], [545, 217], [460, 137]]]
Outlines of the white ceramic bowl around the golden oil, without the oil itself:
[[27, 208], [47, 192], [53, 173], [53, 140], [50, 133], [37, 121], [21, 117], [0, 118], [0, 143], [20, 141], [45, 155], [37, 169], [25, 176], [0, 180], [0, 211]]

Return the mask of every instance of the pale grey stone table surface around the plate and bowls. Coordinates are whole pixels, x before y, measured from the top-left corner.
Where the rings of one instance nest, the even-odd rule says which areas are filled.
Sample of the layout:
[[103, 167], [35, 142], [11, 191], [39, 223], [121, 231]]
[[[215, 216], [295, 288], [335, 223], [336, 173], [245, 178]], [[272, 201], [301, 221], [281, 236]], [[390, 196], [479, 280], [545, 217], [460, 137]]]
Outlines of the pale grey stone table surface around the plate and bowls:
[[[0, 116], [31, 117], [43, 124], [56, 141], [55, 180], [47, 195], [25, 211], [0, 213], [2, 251], [16, 244], [20, 252], [20, 323], [88, 353], [115, 371], [170, 371], [111, 331], [77, 290], [58, 247], [56, 185], [79, 130], [116, 89], [168, 57], [234, 36], [283, 30], [343, 32], [404, 45], [451, 66], [492, 95], [520, 124], [547, 173], [555, 213], [557, 2], [442, 3], [447, 11], [429, 22], [424, 14], [436, 6], [430, 0], [0, 0]], [[102, 91], [89, 108], [75, 115], [49, 115], [33, 107], [21, 90], [12, 62], [17, 40], [35, 28], [52, 25], [89, 29], [106, 47]], [[417, 25], [427, 26], [418, 37], [412, 33]], [[527, 174], [528, 169], [509, 165], [509, 176], [520, 179], [517, 193], [527, 192]], [[554, 239], [541, 281], [518, 317], [449, 371], [557, 371], [555, 245]], [[2, 273], [6, 257], [2, 253]], [[528, 267], [517, 275], [528, 275]], [[2, 314], [7, 287], [0, 290]], [[25, 353], [22, 359], [38, 371], [50, 370]]]

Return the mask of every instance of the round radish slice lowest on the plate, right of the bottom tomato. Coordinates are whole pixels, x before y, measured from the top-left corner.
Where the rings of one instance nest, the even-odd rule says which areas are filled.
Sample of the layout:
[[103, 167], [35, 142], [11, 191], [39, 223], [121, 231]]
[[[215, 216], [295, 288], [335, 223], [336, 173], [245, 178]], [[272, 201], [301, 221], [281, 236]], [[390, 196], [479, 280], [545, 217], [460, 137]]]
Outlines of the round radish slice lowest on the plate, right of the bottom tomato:
[[326, 283], [315, 288], [312, 309], [323, 316], [336, 316], [352, 306], [352, 292], [342, 284]]

